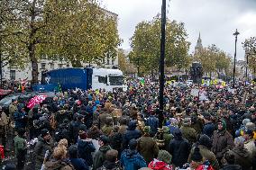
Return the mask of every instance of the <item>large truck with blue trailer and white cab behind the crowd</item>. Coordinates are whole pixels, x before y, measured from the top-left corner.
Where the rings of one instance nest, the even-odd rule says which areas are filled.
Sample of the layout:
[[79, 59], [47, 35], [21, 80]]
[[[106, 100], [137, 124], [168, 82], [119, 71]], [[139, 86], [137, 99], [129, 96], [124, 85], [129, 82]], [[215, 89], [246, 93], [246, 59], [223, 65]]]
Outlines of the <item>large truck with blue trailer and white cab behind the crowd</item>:
[[108, 68], [60, 68], [45, 72], [42, 83], [60, 85], [62, 90], [68, 89], [105, 89], [106, 91], [127, 90], [124, 85], [123, 72]]

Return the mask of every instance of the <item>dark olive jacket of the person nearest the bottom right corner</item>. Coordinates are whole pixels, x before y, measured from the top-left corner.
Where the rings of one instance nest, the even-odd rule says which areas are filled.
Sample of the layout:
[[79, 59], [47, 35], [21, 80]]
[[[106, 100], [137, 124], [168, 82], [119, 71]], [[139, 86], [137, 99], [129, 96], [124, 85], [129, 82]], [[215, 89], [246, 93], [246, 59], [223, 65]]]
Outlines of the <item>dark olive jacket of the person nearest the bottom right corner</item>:
[[242, 170], [252, 169], [252, 157], [246, 148], [233, 148], [228, 151], [234, 155], [234, 164], [242, 167]]

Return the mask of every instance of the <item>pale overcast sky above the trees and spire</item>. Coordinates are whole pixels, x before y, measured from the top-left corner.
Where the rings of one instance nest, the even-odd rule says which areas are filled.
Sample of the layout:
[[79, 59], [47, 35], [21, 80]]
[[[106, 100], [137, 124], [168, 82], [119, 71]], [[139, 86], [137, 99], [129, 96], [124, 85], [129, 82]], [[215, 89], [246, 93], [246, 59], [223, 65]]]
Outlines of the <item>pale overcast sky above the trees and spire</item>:
[[[102, 5], [118, 14], [118, 30], [122, 48], [130, 49], [129, 39], [135, 26], [160, 13], [161, 0], [103, 0]], [[197, 44], [199, 31], [203, 46], [215, 44], [233, 56], [235, 29], [241, 33], [237, 41], [237, 57], [243, 59], [242, 41], [256, 36], [256, 0], [167, 0], [167, 17], [185, 22], [190, 53]]]

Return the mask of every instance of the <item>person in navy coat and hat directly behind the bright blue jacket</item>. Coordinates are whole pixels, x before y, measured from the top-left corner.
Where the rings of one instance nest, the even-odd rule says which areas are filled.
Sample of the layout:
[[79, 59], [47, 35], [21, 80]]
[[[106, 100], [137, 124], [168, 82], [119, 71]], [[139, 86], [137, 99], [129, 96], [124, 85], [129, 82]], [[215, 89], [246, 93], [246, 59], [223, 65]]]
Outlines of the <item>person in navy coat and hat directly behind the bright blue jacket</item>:
[[128, 148], [131, 139], [139, 139], [142, 136], [140, 130], [136, 130], [136, 122], [130, 121], [127, 130], [123, 134], [123, 149]]

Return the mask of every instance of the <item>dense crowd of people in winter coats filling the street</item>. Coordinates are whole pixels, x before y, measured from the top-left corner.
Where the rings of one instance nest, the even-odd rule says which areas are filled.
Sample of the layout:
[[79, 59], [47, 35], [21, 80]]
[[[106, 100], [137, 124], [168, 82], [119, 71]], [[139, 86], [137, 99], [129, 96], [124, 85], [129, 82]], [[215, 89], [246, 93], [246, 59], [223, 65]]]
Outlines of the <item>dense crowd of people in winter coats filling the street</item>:
[[0, 111], [0, 132], [5, 148], [10, 148], [6, 133], [13, 133], [16, 161], [2, 166], [255, 169], [256, 87], [200, 87], [208, 100], [191, 95], [194, 88], [165, 86], [163, 122], [158, 118], [159, 85], [150, 80], [131, 81], [127, 92], [70, 90], [46, 98], [31, 110], [28, 101], [13, 100], [8, 117]]

